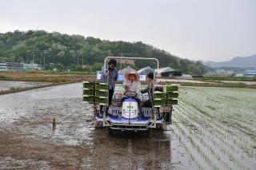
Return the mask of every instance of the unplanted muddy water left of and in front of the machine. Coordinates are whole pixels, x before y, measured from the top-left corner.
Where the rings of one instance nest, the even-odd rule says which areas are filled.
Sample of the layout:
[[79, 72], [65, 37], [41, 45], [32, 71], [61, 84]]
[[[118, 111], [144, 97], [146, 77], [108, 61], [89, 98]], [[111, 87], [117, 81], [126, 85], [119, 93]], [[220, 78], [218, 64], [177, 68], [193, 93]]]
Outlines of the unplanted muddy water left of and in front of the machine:
[[171, 126], [150, 136], [95, 129], [81, 94], [71, 84], [0, 96], [0, 169], [197, 168]]

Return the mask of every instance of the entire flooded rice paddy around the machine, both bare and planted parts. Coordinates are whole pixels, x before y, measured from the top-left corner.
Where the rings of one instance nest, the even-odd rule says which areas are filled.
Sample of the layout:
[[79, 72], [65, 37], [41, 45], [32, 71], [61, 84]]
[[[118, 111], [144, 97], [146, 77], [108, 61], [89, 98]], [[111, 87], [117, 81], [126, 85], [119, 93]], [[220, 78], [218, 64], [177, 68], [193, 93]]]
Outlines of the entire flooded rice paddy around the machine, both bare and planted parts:
[[1, 95], [0, 169], [254, 169], [255, 103], [254, 89], [186, 87], [165, 131], [110, 136], [80, 83]]

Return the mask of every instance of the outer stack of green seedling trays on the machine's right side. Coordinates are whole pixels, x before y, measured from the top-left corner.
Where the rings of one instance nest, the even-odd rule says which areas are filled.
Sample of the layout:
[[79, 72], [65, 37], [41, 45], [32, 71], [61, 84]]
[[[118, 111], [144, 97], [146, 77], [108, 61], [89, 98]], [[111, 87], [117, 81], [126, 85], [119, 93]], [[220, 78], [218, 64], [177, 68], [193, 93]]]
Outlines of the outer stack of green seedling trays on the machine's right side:
[[178, 87], [179, 85], [166, 86], [166, 105], [178, 105]]

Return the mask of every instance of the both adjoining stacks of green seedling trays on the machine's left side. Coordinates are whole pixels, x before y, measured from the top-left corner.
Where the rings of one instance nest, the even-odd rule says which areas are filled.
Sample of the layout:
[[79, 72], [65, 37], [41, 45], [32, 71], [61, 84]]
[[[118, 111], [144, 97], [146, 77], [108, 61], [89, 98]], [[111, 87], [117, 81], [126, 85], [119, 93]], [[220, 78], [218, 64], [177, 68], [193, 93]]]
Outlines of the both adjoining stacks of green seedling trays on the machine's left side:
[[84, 81], [82, 92], [83, 101], [90, 104], [107, 105], [108, 103], [108, 86], [106, 83]]

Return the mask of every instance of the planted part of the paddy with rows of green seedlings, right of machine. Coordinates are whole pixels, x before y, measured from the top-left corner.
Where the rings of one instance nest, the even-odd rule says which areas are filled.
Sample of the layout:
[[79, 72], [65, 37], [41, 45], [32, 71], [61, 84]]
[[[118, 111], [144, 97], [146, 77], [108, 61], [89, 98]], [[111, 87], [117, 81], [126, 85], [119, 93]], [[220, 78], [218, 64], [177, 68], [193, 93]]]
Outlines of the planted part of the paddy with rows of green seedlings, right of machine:
[[214, 169], [254, 169], [256, 92], [202, 87], [186, 91], [179, 95], [173, 119], [180, 123], [174, 130], [198, 168], [206, 167], [198, 161], [203, 159]]

